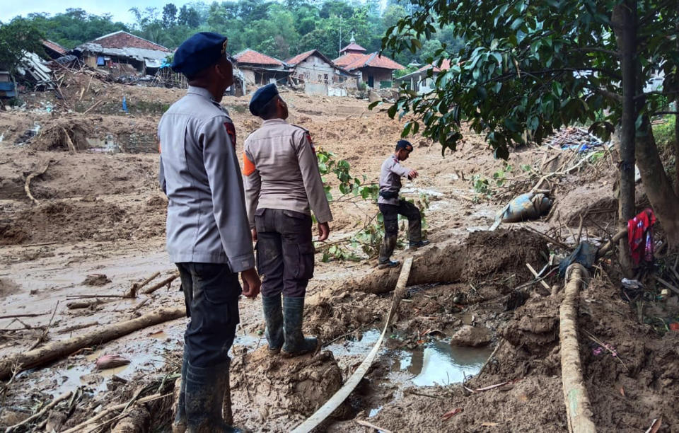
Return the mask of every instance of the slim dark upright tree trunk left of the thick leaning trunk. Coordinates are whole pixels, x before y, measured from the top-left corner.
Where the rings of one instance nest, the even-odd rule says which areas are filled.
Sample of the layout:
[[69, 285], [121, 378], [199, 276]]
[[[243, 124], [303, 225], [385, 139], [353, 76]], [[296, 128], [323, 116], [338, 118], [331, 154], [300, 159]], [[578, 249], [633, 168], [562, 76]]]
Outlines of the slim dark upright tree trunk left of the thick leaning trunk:
[[[634, 218], [634, 137], [637, 109], [637, 0], [625, 0], [613, 8], [611, 16], [622, 72], [622, 120], [620, 121], [620, 196], [617, 201], [620, 229]], [[627, 277], [632, 277], [627, 239], [620, 240], [620, 265]]]

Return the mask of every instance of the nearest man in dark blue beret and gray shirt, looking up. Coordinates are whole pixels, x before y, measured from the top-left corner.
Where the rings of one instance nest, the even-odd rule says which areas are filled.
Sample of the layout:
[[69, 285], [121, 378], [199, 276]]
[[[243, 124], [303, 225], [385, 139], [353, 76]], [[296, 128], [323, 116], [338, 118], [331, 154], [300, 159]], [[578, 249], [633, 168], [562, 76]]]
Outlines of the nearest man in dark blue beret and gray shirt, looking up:
[[[236, 335], [238, 272], [255, 298], [260, 279], [250, 238], [236, 130], [219, 102], [233, 84], [226, 37], [197, 33], [175, 52], [186, 96], [161, 118], [161, 185], [168, 195], [167, 249], [179, 268], [187, 316], [173, 432], [240, 432], [226, 425], [228, 350]], [[228, 405], [230, 407], [230, 405]]]

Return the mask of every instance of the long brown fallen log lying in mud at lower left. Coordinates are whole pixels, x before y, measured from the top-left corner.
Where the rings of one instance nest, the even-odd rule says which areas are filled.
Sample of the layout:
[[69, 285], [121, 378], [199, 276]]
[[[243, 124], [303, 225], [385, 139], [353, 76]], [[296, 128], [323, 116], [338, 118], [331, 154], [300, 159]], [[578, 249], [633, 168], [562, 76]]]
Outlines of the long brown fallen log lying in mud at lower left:
[[185, 316], [185, 308], [160, 308], [153, 313], [146, 314], [121, 323], [105, 325], [90, 333], [69, 338], [69, 340], [53, 341], [35, 350], [12, 354], [0, 360], [0, 380], [11, 377], [13, 366], [18, 371], [33, 369], [37, 366], [48, 364], [56, 359], [68, 357], [83, 347], [100, 345], [110, 340], [122, 337], [136, 330], [147, 328], [167, 321], [172, 321]]

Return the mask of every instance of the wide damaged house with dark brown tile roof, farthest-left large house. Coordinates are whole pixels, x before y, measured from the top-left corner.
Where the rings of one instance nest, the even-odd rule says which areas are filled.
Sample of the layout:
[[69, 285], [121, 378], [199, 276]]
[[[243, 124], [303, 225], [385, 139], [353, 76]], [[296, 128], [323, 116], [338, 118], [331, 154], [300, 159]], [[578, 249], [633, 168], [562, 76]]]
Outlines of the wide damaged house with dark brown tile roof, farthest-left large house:
[[109, 33], [75, 47], [72, 52], [90, 67], [122, 74], [156, 74], [172, 52], [155, 42], [123, 30]]

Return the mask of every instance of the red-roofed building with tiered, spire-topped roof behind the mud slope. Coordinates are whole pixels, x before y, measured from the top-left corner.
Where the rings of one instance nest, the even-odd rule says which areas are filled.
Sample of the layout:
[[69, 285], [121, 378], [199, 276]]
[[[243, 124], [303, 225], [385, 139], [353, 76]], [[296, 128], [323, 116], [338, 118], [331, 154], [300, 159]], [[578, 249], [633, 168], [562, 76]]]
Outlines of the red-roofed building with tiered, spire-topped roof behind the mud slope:
[[394, 71], [405, 67], [378, 52], [366, 53], [366, 51], [364, 47], [356, 44], [352, 36], [349, 45], [340, 50], [340, 57], [332, 62], [349, 72], [360, 73], [361, 81], [371, 88], [392, 87]]

